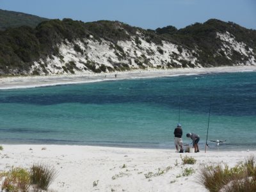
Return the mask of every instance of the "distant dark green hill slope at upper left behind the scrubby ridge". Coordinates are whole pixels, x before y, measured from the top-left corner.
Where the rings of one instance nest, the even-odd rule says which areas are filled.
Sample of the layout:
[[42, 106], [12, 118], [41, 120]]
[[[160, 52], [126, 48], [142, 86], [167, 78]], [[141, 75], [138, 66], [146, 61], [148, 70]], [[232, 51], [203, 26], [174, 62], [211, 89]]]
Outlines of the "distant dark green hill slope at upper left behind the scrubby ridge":
[[30, 26], [35, 28], [40, 22], [49, 20], [36, 15], [21, 12], [11, 12], [0, 9], [0, 30], [7, 28], [17, 28], [19, 26]]

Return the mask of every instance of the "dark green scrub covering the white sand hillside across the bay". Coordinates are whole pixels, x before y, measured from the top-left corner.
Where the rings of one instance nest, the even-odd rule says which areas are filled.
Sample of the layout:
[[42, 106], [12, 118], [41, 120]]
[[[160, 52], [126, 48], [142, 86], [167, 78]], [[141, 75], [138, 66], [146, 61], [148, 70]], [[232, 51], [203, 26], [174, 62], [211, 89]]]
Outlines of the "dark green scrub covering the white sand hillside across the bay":
[[[0, 15], [1, 16], [1, 15]], [[138, 35], [139, 32], [140, 35]], [[28, 74], [31, 65], [34, 61], [42, 61], [40, 67], [47, 74], [45, 63], [47, 58], [52, 55], [60, 58], [63, 63], [63, 70], [67, 73], [74, 73], [76, 65], [65, 63], [63, 56], [60, 55], [58, 45], [74, 44], [74, 50], [81, 53], [89, 63], [84, 65], [84, 69], [92, 72], [106, 72], [113, 70], [130, 70], [129, 66], [123, 65], [122, 60], [136, 62], [139, 68], [150, 67], [152, 64], [147, 57], [130, 58], [129, 54], [122, 49], [117, 42], [122, 40], [132, 40], [135, 38], [135, 43], [139, 49], [141, 40], [146, 40], [148, 43], [157, 45], [157, 51], [164, 54], [161, 46], [163, 41], [172, 42], [178, 45], [177, 49], [181, 54], [184, 50], [193, 52], [193, 56], [198, 59], [198, 63], [203, 67], [216, 67], [223, 65], [233, 65], [236, 63], [244, 63], [250, 58], [249, 56], [241, 55], [237, 51], [232, 51], [227, 58], [225, 51], [220, 47], [223, 42], [220, 38], [216, 38], [216, 33], [230, 33], [238, 42], [244, 42], [246, 49], [253, 49], [256, 54], [256, 31], [243, 28], [232, 22], [223, 22], [217, 19], [210, 19], [204, 23], [195, 23], [186, 28], [177, 30], [173, 26], [164, 28], [141, 29], [129, 26], [118, 21], [99, 20], [97, 22], [81, 22], [72, 19], [53, 19], [40, 22], [36, 28], [29, 26], [20, 26], [17, 28], [8, 28], [0, 31], [0, 76], [6, 75], [26, 75]], [[131, 38], [132, 37], [132, 38]], [[120, 63], [112, 63], [113, 68], [103, 67], [104, 63], [93, 63], [88, 58], [86, 50], [81, 49], [76, 44], [77, 40], [81, 41], [85, 47], [88, 42], [86, 39], [98, 41], [101, 44], [102, 39], [111, 42], [113, 45], [109, 49], [115, 49], [115, 54], [118, 56]], [[154, 51], [147, 51], [148, 54], [154, 55]], [[227, 52], [227, 51], [226, 51]], [[170, 58], [178, 61], [179, 54], [172, 52]], [[116, 62], [116, 61], [115, 61]], [[187, 60], [180, 60], [182, 67], [194, 67]], [[115, 64], [115, 65], [114, 65]], [[167, 65], [167, 66], [166, 66]], [[180, 67], [175, 61], [167, 64], [162, 64], [162, 67], [177, 68]], [[159, 65], [160, 66], [160, 65]], [[35, 70], [33, 74], [38, 75], [40, 71]]]

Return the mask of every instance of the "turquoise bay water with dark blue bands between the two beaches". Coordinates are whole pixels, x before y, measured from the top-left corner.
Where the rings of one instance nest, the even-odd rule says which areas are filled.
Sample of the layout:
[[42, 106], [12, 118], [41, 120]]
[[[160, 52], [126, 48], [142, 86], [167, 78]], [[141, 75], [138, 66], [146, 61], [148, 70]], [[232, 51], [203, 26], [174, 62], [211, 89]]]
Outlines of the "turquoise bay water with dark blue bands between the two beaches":
[[255, 150], [256, 72], [0, 90], [0, 142], [173, 148], [180, 117], [202, 148], [210, 102], [210, 149]]

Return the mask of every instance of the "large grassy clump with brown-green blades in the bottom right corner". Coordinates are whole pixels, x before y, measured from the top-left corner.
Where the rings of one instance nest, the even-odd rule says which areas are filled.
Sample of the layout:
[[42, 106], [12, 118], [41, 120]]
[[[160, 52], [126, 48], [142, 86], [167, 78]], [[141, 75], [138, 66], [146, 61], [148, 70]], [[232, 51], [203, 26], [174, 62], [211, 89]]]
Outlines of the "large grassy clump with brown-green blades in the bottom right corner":
[[[198, 176], [200, 184], [209, 191], [256, 191], [255, 157], [250, 157], [245, 163], [237, 164], [234, 168], [204, 165]], [[225, 190], [223, 190], [225, 189]]]

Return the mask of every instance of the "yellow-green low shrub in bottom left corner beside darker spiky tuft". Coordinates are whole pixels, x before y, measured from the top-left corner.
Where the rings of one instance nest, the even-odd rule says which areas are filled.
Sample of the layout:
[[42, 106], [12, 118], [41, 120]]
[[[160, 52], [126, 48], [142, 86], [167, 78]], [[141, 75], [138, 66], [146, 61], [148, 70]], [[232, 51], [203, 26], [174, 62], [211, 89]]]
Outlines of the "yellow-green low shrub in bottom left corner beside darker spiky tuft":
[[28, 191], [29, 172], [23, 168], [12, 168], [9, 172], [0, 174], [0, 179], [5, 177], [2, 190], [5, 191]]

